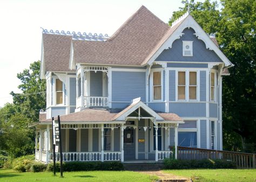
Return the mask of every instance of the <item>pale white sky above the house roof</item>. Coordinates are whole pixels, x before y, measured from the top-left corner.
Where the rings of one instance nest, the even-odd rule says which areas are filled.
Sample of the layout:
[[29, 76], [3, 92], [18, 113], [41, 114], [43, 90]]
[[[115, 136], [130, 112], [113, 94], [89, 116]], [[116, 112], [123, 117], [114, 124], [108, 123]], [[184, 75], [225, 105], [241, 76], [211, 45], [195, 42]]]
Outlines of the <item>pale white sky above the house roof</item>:
[[[203, 1], [202, 1], [203, 2]], [[41, 59], [42, 29], [111, 36], [140, 6], [168, 22], [181, 0], [1, 0], [0, 107], [21, 93], [17, 73]]]

